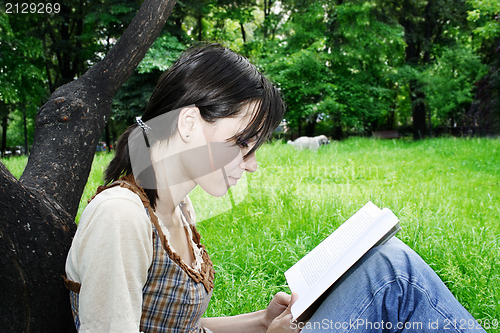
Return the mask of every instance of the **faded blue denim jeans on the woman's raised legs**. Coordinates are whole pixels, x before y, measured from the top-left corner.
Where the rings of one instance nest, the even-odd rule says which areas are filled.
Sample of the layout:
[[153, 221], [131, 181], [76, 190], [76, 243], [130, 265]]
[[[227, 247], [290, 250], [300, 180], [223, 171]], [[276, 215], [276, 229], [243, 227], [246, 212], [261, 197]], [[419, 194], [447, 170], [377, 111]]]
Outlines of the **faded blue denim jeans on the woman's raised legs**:
[[432, 268], [396, 237], [366, 253], [299, 327], [303, 333], [485, 332]]

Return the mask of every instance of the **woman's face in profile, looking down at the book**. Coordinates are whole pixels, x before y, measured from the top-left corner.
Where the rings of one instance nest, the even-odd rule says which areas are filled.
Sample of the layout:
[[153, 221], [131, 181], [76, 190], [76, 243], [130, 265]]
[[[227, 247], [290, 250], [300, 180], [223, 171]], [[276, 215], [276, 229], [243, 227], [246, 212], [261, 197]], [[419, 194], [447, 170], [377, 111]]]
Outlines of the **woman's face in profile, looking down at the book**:
[[257, 170], [255, 153], [243, 159], [255, 145], [250, 142], [230, 142], [229, 138], [241, 132], [250, 122], [254, 104], [243, 107], [242, 112], [234, 118], [222, 118], [215, 123], [203, 122], [203, 132], [208, 147], [210, 171], [194, 179], [205, 192], [215, 197], [226, 194], [230, 186], [236, 185], [243, 172]]

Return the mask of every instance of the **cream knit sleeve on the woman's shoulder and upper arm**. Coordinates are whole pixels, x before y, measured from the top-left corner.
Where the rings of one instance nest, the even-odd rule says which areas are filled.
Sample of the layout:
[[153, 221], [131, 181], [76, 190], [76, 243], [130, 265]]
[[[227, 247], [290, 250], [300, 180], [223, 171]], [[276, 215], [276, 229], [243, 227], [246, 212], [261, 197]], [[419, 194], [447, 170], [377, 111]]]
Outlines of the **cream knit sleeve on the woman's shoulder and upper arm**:
[[139, 332], [142, 288], [152, 260], [151, 222], [128, 189], [106, 190], [89, 206], [66, 266], [68, 277], [82, 285], [80, 328]]

